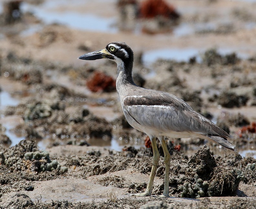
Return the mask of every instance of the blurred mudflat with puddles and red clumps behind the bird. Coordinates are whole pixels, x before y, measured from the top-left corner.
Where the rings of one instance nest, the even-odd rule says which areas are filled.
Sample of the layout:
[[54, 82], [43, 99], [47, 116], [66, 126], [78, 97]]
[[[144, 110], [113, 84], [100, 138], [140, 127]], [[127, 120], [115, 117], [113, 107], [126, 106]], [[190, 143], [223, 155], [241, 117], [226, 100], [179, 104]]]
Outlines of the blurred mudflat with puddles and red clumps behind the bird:
[[123, 117], [115, 63], [77, 59], [123, 41], [138, 85], [181, 97], [255, 157], [255, 11], [255, 0], [0, 1], [0, 146], [144, 146]]

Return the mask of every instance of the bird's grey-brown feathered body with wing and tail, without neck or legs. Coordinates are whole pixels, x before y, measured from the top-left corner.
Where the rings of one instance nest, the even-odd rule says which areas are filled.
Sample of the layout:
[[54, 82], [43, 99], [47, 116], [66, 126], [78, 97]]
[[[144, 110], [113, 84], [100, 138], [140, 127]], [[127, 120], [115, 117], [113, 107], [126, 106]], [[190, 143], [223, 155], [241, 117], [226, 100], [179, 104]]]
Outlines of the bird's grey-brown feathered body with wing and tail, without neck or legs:
[[[128, 122], [146, 134], [173, 138], [200, 137], [235, 150], [229, 134], [198, 114], [178, 97], [138, 86], [125, 84], [119, 96]], [[135, 93], [136, 92], [136, 93]]]

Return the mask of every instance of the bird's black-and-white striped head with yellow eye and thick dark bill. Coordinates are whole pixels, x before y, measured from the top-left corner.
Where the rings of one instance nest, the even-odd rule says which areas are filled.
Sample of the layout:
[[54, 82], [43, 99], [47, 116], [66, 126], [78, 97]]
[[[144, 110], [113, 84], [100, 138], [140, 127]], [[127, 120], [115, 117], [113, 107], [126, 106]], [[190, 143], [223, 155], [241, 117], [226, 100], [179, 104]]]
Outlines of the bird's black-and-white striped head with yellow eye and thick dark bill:
[[90, 52], [78, 58], [84, 60], [107, 58], [115, 61], [118, 65], [128, 66], [133, 63], [133, 50], [124, 42], [113, 42], [102, 50]]

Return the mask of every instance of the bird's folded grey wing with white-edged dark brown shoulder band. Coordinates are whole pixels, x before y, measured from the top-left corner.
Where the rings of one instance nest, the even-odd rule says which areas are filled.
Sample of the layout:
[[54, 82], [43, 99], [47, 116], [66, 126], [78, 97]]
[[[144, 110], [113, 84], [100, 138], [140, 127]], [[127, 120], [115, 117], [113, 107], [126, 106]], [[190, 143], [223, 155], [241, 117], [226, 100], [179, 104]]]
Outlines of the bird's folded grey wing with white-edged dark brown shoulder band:
[[165, 92], [151, 90], [126, 96], [123, 109], [137, 123], [162, 133], [170, 131], [199, 133], [227, 138], [228, 133], [198, 114], [182, 99]]

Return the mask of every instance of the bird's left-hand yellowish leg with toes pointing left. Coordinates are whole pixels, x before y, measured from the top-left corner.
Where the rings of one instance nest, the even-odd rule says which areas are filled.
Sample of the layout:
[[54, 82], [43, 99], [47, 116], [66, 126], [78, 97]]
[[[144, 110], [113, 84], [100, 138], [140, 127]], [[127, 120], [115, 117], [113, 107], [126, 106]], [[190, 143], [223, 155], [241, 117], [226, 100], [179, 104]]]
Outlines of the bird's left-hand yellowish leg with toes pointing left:
[[137, 194], [135, 194], [136, 196], [150, 196], [152, 193], [153, 182], [154, 182], [155, 173], [156, 173], [157, 165], [159, 162], [160, 154], [159, 154], [157, 146], [156, 146], [155, 137], [150, 137], [150, 141], [151, 141], [152, 149], [153, 149], [153, 165], [152, 165], [152, 169], [151, 169], [150, 176], [149, 176], [149, 182], [148, 182], [146, 191], [143, 193], [137, 193]]

